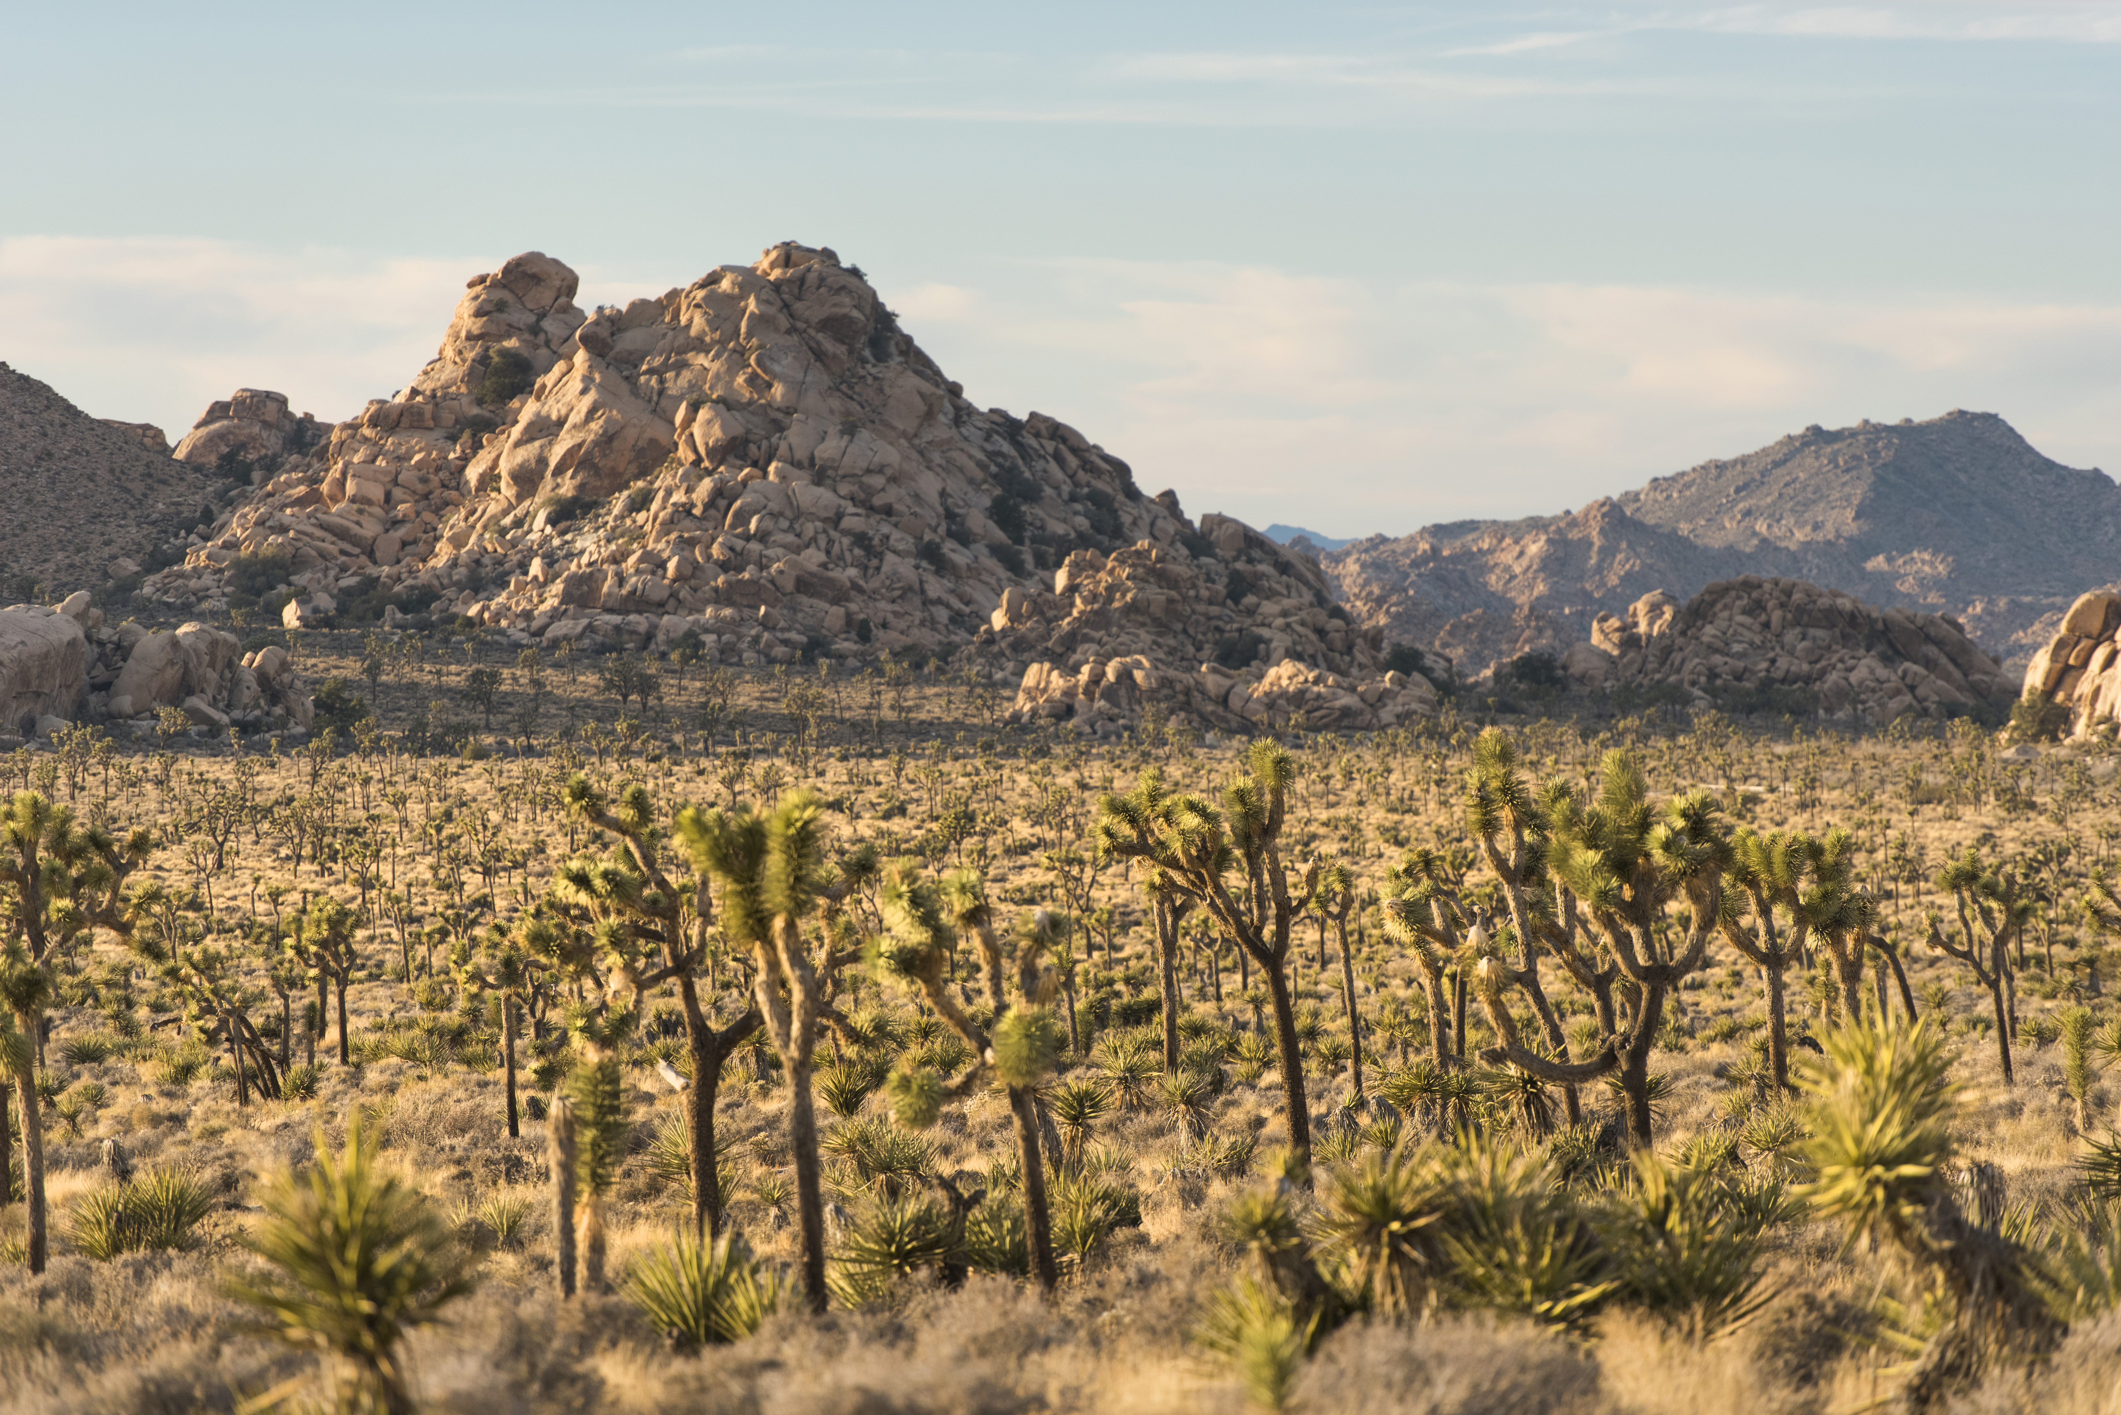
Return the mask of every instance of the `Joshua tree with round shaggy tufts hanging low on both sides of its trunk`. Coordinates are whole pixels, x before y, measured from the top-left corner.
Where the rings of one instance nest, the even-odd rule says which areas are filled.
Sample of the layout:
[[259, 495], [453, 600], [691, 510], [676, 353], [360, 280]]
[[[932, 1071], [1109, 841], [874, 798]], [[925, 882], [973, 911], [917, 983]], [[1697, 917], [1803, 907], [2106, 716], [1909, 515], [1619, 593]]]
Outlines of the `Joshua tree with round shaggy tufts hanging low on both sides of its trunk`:
[[[893, 868], [884, 878], [887, 940], [876, 959], [884, 974], [895, 976], [927, 997], [929, 1006], [971, 1048], [971, 1065], [963, 1076], [944, 1082], [921, 1067], [899, 1067], [891, 1073], [891, 1112], [910, 1129], [927, 1129], [942, 1112], [944, 1099], [963, 1097], [988, 1067], [1010, 1093], [1010, 1114], [1016, 1118], [1016, 1154], [1024, 1175], [1024, 1237], [1031, 1247], [1031, 1269], [1046, 1288], [1060, 1273], [1054, 1264], [1052, 1218], [1046, 1201], [1046, 1158], [1039, 1152], [1037, 1086], [1060, 1052], [1060, 1027], [1054, 1020], [1052, 969], [1039, 969], [1035, 925], [1014, 942], [1018, 963], [1018, 1006], [1010, 1006], [1005, 974], [1012, 946], [993, 927], [993, 906], [976, 870], [959, 870], [937, 887], [923, 880], [910, 866]], [[971, 933], [980, 948], [980, 972], [986, 1003], [995, 1014], [993, 1033], [982, 1031], [948, 989], [952, 927]]]

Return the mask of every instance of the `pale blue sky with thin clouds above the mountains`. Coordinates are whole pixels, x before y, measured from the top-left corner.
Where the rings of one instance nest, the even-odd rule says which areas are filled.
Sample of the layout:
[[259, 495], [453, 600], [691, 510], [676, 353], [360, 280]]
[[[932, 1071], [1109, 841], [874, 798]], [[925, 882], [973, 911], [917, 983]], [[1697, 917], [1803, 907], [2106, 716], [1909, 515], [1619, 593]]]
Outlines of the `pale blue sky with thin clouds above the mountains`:
[[0, 0], [0, 361], [344, 418], [518, 250], [778, 240], [1190, 513], [1400, 535], [1805, 424], [2121, 469], [2121, 0]]

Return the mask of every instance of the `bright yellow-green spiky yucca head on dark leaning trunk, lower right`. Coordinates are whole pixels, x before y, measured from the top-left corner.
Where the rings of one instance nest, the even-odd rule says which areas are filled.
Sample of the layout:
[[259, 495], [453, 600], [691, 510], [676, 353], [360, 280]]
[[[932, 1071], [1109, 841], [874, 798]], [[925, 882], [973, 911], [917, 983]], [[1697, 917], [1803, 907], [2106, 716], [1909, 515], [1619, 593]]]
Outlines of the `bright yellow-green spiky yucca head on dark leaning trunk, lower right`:
[[1934, 1409], [1994, 1362], [2049, 1349], [2059, 1324], [2034, 1292], [2028, 1256], [1953, 1201], [1945, 1167], [1958, 1088], [1947, 1042], [1928, 1018], [1833, 1031], [1801, 1084], [1811, 1093], [1803, 1152], [1818, 1173], [1805, 1199], [1839, 1218], [1850, 1243], [1896, 1245], [1949, 1296], [1951, 1317], [1909, 1377], [1909, 1407]]

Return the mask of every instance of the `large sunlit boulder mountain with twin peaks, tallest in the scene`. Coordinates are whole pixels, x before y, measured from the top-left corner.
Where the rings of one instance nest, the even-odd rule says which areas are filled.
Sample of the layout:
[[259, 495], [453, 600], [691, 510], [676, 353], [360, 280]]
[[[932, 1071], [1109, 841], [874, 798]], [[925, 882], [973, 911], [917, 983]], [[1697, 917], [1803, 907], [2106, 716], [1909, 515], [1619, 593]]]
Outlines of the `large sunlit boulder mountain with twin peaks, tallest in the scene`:
[[244, 448], [274, 475], [146, 592], [293, 590], [288, 622], [382, 596], [524, 643], [698, 634], [728, 662], [1374, 672], [1379, 639], [1311, 560], [1234, 522], [1203, 535], [1067, 424], [974, 407], [829, 248], [624, 310], [575, 293], [539, 252], [473, 276], [437, 356], [314, 448], [252, 437], [295, 426], [278, 395], [216, 403], [178, 454]]

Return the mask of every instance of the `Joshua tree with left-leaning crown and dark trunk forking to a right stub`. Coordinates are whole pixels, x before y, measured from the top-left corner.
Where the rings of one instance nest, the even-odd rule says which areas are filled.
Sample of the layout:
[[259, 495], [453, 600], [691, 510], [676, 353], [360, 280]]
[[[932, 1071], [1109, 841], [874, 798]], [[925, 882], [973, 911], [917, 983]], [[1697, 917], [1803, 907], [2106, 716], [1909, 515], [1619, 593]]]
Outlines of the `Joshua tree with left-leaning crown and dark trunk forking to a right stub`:
[[[691, 1084], [685, 1093], [685, 1137], [691, 1160], [694, 1230], [721, 1233], [721, 1184], [715, 1173], [715, 1093], [721, 1067], [759, 1029], [757, 1003], [728, 1027], [715, 1027], [700, 1006], [700, 972], [708, 961], [713, 897], [708, 872], [694, 859], [691, 878], [672, 878], [660, 863], [664, 832], [653, 825], [653, 804], [641, 785], [613, 804], [588, 779], [566, 785], [568, 804], [590, 825], [615, 840], [611, 859], [579, 861], [560, 872], [560, 891], [598, 919], [600, 942], [613, 969], [636, 995], [674, 982], [685, 1014], [685, 1050]], [[507, 995], [503, 995], [507, 1006]], [[509, 1107], [513, 1126], [513, 1101]], [[513, 1129], [509, 1131], [513, 1133]]]

